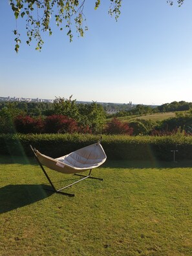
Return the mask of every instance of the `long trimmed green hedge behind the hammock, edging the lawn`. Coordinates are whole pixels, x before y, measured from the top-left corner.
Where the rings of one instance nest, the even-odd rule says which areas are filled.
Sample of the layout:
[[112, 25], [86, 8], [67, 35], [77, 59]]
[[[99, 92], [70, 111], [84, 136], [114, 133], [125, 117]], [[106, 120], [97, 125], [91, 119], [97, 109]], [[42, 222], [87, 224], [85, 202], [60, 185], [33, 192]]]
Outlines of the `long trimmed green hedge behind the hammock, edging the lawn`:
[[[53, 158], [98, 141], [91, 134], [0, 134], [0, 155], [32, 156], [30, 144]], [[192, 159], [192, 136], [125, 136], [103, 135], [101, 142], [110, 160], [177, 160]]]

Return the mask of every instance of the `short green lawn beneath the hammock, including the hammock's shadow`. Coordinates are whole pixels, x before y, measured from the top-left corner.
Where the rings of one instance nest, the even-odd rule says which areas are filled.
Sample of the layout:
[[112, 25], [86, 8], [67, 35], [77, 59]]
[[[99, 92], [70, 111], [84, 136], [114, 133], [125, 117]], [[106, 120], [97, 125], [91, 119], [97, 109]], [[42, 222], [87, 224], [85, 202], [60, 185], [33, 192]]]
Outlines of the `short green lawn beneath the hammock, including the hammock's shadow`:
[[34, 160], [12, 160], [0, 156], [0, 255], [192, 255], [192, 168], [107, 161], [67, 197], [43, 189]]

